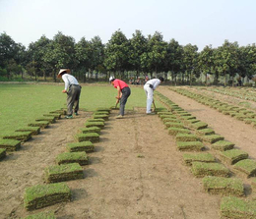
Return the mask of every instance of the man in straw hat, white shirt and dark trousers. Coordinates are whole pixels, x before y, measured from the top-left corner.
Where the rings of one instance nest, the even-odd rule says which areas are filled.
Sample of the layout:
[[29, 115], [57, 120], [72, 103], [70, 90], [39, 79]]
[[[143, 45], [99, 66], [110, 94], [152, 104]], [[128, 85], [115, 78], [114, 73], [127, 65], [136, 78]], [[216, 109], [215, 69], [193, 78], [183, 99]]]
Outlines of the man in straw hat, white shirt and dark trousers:
[[65, 82], [65, 88], [62, 90], [63, 93], [67, 93], [67, 119], [73, 118], [73, 106], [75, 115], [78, 115], [79, 110], [79, 98], [81, 93], [81, 85], [74, 76], [71, 76], [69, 69], [61, 69], [57, 76], [58, 79], [62, 78]]

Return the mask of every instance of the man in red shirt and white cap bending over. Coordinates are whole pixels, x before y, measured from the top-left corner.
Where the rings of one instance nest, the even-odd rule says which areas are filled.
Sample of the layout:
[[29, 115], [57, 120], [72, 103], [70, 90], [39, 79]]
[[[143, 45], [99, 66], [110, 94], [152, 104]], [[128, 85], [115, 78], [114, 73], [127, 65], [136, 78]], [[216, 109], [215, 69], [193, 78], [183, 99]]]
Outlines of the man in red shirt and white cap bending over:
[[117, 80], [114, 77], [110, 77], [109, 82], [111, 82], [111, 84], [117, 88], [117, 96], [115, 98], [120, 101], [119, 115], [116, 117], [116, 119], [122, 119], [124, 116], [125, 104], [131, 94], [131, 89], [126, 82]]

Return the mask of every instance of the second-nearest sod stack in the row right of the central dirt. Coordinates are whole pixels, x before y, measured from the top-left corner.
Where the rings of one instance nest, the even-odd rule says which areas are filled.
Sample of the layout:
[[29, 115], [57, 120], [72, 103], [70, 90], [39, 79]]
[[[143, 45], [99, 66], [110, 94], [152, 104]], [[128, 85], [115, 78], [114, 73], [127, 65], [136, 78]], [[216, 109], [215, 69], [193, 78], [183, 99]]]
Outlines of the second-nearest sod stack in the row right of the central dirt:
[[241, 179], [208, 176], [203, 179], [204, 190], [211, 194], [244, 196]]

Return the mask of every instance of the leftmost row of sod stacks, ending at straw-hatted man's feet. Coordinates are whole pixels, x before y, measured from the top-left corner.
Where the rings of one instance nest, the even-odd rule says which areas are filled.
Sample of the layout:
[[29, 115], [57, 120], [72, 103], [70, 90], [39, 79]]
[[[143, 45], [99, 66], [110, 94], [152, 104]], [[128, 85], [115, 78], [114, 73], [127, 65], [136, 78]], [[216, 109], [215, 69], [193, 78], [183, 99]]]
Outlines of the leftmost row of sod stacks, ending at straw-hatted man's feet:
[[35, 122], [28, 124], [27, 127], [18, 128], [12, 134], [0, 138], [0, 160], [6, 157], [6, 152], [20, 149], [23, 142], [31, 139], [34, 135], [40, 134], [41, 129], [47, 128], [50, 123], [60, 119], [61, 115], [65, 115], [65, 112], [65, 110], [49, 112], [49, 114], [45, 114], [42, 118], [36, 119]]

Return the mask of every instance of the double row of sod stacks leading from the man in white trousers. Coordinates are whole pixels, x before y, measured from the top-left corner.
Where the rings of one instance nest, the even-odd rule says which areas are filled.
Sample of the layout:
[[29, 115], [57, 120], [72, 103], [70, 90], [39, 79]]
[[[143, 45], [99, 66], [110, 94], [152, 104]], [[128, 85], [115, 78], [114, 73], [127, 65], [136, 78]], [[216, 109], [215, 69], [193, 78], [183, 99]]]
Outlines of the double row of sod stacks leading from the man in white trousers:
[[[255, 176], [256, 162], [248, 159], [245, 151], [234, 148], [234, 143], [217, 135], [206, 123], [197, 120], [159, 92], [156, 94], [168, 109], [168, 112], [158, 113], [168, 134], [175, 137], [179, 151], [189, 151], [183, 154], [184, 164], [191, 167], [195, 177], [203, 178], [206, 192], [224, 196], [222, 216], [256, 218], [256, 200], [244, 198], [246, 192], [241, 179]], [[256, 181], [252, 180], [251, 187], [254, 185]]]

